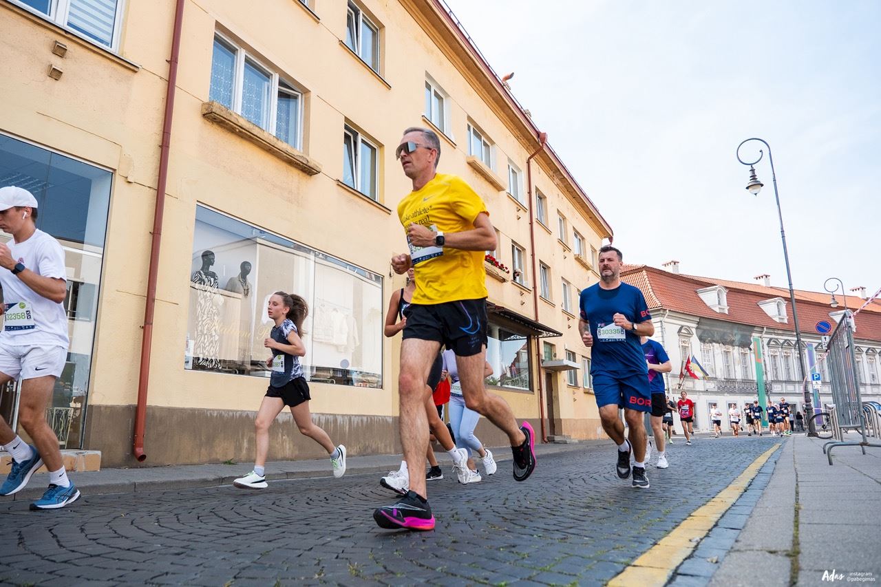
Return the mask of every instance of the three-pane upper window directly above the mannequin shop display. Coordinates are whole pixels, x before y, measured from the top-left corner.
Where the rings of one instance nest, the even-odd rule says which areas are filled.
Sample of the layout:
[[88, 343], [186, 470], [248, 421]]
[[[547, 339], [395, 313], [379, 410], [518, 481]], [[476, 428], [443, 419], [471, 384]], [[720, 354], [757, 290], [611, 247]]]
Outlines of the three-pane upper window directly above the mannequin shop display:
[[214, 37], [208, 100], [300, 149], [303, 94], [219, 35]]

